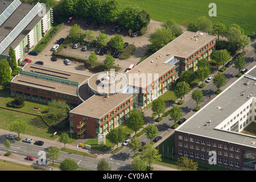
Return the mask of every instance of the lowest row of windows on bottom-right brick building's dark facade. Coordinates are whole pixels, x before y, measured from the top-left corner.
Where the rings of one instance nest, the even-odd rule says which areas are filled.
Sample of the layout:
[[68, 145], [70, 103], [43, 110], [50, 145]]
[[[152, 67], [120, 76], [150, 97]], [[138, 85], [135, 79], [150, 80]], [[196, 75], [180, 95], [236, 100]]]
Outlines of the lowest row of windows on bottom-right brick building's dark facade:
[[[190, 156], [191, 158], [196, 158], [196, 159], [201, 159], [201, 160], [208, 160], [208, 162], [216, 162], [216, 158], [212, 158], [212, 155], [205, 155], [205, 154], [200, 154], [199, 152], [193, 152], [193, 151], [187, 151], [179, 149], [179, 155], [185, 155], [185, 156]], [[229, 165], [230, 167], [240, 167], [240, 162], [234, 161], [234, 160], [228, 160], [225, 158], [218, 157], [218, 164], [225, 164]]]

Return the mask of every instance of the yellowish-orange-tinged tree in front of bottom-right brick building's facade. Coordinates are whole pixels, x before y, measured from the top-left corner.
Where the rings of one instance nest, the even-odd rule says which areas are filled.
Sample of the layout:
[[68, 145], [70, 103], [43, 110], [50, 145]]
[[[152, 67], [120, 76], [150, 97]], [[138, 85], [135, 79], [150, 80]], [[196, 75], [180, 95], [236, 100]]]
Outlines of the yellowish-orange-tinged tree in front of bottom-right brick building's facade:
[[193, 162], [193, 160], [188, 159], [187, 156], [182, 156], [181, 158], [178, 158], [176, 161], [178, 169], [181, 169], [183, 171], [196, 171], [198, 168], [198, 163]]

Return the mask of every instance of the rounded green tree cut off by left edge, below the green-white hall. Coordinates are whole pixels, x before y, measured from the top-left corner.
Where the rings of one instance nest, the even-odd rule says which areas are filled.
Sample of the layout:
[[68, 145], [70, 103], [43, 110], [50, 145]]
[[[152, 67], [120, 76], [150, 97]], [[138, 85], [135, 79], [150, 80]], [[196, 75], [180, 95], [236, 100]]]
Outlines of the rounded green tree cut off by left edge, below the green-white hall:
[[0, 60], [0, 85], [5, 86], [8, 85], [11, 81], [11, 70], [9, 68], [9, 64], [6, 59]]

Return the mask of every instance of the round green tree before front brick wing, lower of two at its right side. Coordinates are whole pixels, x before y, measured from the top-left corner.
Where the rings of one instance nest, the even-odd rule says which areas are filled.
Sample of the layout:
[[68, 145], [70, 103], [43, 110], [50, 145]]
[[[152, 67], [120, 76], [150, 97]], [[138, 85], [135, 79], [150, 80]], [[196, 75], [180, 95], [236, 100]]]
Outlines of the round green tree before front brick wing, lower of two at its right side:
[[126, 138], [126, 131], [121, 126], [119, 126], [111, 130], [107, 137], [110, 142], [117, 144], [118, 148], [118, 143], [123, 142]]

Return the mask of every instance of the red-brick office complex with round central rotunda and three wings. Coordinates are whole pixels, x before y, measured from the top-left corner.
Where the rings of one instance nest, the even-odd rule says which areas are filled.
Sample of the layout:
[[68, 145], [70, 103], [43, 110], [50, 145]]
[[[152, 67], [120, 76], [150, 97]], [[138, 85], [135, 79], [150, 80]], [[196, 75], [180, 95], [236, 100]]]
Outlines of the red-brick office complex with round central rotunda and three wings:
[[170, 89], [181, 71], [195, 71], [198, 60], [209, 60], [215, 40], [206, 32], [186, 31], [125, 74], [89, 77], [26, 64], [11, 81], [11, 94], [41, 102], [65, 100], [72, 108], [71, 132], [77, 138], [99, 137], [124, 122], [134, 107], [144, 107]]

